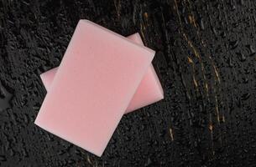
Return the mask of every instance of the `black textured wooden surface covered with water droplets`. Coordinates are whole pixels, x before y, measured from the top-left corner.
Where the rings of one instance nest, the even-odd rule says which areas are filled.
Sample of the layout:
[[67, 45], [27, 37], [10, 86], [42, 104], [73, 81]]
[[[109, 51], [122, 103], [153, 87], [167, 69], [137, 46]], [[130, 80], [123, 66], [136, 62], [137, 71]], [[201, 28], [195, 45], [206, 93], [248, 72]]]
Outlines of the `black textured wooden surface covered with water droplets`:
[[[0, 2], [0, 166], [256, 166], [254, 0]], [[165, 100], [123, 117], [102, 158], [34, 125], [80, 18], [157, 51]]]

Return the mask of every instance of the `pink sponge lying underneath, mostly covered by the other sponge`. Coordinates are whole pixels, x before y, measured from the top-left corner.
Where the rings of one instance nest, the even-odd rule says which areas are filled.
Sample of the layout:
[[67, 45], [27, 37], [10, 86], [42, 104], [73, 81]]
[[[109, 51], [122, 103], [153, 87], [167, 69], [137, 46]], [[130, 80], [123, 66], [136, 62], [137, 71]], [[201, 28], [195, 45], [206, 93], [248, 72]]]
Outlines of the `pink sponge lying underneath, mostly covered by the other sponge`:
[[[134, 43], [144, 44], [138, 33], [128, 36], [128, 39], [132, 40]], [[40, 75], [47, 91], [50, 89], [50, 85], [55, 78], [57, 70], [58, 68], [52, 68]], [[158, 102], [160, 99], [164, 99], [164, 91], [153, 65], [150, 64], [149, 69], [145, 73], [125, 113], [127, 114], [136, 109], [143, 108], [144, 106]]]

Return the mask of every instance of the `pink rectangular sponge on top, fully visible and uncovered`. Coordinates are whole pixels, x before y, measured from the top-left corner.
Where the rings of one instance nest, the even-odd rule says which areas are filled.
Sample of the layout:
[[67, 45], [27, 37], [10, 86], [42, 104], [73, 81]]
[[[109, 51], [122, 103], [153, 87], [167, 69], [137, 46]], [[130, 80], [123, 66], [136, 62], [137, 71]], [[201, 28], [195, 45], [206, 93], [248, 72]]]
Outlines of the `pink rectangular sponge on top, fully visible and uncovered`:
[[80, 20], [34, 123], [101, 156], [154, 51]]

